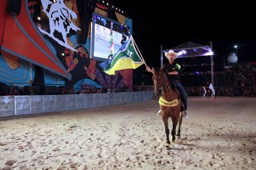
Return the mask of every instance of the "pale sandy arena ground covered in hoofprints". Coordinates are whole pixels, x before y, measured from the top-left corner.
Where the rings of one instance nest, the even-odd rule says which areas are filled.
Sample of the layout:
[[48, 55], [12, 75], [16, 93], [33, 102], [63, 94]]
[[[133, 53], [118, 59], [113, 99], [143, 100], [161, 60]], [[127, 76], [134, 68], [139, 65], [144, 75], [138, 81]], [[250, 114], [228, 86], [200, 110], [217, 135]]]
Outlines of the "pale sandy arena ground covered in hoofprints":
[[190, 97], [171, 150], [156, 109], [148, 101], [1, 118], [0, 169], [256, 169], [256, 97]]

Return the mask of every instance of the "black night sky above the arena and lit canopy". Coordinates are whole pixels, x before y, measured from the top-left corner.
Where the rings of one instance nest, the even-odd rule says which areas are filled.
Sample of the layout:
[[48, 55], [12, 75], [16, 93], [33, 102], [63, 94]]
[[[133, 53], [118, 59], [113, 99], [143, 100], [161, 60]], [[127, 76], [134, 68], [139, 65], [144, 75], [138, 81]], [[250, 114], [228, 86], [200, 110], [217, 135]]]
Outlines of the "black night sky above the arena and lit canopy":
[[[107, 1], [133, 21], [133, 38], [148, 66], [160, 65], [160, 45], [172, 48], [192, 41], [212, 46], [215, 57], [235, 52], [238, 62], [256, 60], [256, 24], [253, 4], [204, 1]], [[167, 60], [164, 59], [164, 62]]]

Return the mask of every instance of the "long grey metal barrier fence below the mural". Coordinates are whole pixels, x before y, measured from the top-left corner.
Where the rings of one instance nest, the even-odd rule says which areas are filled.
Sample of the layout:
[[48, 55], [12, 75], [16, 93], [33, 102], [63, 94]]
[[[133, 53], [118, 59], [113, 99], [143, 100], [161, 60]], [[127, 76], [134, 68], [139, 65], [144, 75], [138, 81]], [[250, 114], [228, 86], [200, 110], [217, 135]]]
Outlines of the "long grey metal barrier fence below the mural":
[[153, 91], [102, 94], [0, 96], [0, 117], [80, 110], [116, 104], [149, 101]]

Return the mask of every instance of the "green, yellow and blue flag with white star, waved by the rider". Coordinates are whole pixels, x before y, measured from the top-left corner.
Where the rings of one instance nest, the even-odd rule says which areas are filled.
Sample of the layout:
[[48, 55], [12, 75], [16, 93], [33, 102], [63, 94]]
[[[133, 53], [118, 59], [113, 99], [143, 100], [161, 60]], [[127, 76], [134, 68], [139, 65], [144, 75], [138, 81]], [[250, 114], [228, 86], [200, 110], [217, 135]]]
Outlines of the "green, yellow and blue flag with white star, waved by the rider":
[[120, 69], [136, 69], [140, 67], [143, 60], [138, 55], [131, 38], [121, 46], [113, 59], [99, 64], [103, 71], [109, 75], [115, 75], [115, 71]]

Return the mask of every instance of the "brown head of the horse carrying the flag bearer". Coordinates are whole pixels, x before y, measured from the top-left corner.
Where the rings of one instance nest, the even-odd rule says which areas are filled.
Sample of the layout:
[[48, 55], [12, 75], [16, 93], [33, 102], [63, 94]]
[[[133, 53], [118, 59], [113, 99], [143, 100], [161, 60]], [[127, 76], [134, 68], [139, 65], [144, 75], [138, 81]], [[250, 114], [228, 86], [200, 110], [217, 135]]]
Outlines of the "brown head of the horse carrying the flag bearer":
[[168, 85], [168, 77], [161, 69], [154, 69], [153, 74], [153, 83], [154, 83], [154, 93], [156, 96], [162, 96], [166, 91], [166, 87]]

